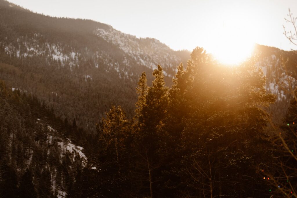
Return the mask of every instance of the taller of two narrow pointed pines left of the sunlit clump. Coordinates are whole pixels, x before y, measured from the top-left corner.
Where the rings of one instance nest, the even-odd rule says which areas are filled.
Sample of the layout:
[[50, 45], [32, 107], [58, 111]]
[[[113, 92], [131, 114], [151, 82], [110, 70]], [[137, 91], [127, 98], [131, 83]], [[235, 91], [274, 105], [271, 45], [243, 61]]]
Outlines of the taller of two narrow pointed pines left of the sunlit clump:
[[144, 179], [149, 192], [145, 192], [143, 196], [150, 195], [153, 197], [153, 183], [158, 178], [157, 170], [161, 164], [159, 145], [164, 142], [164, 134], [162, 126], [167, 113], [168, 105], [168, 87], [165, 86], [163, 69], [160, 65], [154, 70], [155, 77], [152, 86], [148, 88], [148, 93], [145, 97], [145, 103], [139, 115], [138, 127], [139, 134], [136, 137], [136, 154], [138, 160], [136, 166], [138, 170], [143, 170], [139, 173], [140, 180]]

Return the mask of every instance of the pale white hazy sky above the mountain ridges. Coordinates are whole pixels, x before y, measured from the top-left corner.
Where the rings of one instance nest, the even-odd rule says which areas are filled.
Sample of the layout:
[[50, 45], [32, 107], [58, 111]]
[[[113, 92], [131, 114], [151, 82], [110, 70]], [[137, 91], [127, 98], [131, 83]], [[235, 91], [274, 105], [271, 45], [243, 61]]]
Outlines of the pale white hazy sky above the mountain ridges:
[[[220, 41], [296, 49], [283, 35], [296, 0], [9, 0], [45, 15], [93, 19], [137, 37], [153, 37], [175, 50], [210, 51]], [[227, 35], [227, 36], [226, 36]], [[233, 40], [233, 41], [230, 41]]]

